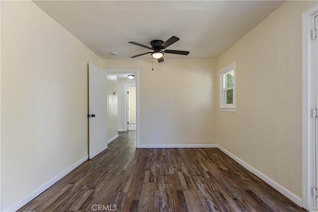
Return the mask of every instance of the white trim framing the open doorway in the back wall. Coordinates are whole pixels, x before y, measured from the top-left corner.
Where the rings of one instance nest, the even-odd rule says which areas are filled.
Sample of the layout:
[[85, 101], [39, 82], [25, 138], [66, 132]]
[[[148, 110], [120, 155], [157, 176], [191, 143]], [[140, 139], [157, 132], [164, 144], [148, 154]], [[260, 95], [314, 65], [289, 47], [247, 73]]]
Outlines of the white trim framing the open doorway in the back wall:
[[135, 72], [136, 78], [136, 147], [140, 148], [140, 97], [139, 97], [139, 69], [105, 69], [107, 73], [131, 73]]

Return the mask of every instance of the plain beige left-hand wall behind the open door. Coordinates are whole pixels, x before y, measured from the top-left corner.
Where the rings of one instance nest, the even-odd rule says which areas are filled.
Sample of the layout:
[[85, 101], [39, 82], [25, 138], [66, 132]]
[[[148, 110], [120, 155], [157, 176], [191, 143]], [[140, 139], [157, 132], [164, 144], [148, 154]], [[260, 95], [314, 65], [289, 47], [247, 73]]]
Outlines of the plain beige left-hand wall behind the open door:
[[101, 60], [32, 1], [1, 1], [1, 209], [82, 159], [87, 63]]

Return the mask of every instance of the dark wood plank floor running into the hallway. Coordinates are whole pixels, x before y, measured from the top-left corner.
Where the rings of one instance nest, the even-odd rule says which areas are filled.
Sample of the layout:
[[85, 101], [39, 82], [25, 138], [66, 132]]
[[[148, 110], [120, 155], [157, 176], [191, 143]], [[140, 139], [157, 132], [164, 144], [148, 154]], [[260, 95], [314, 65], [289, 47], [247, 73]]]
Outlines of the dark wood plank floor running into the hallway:
[[303, 211], [217, 148], [136, 149], [135, 131], [119, 135], [19, 211]]

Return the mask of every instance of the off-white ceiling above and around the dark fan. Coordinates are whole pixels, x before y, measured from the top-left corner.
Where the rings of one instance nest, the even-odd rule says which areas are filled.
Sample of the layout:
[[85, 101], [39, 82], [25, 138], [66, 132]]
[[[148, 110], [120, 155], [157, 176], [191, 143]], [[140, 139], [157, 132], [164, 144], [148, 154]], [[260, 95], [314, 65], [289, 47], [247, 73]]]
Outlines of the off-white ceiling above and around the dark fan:
[[[129, 59], [149, 51], [129, 41], [150, 46], [150, 41], [166, 41], [172, 35], [180, 40], [167, 49], [190, 54], [165, 54], [164, 59], [185, 59], [218, 57], [285, 1], [34, 2], [102, 59]], [[111, 52], [118, 55], [111, 56]]]

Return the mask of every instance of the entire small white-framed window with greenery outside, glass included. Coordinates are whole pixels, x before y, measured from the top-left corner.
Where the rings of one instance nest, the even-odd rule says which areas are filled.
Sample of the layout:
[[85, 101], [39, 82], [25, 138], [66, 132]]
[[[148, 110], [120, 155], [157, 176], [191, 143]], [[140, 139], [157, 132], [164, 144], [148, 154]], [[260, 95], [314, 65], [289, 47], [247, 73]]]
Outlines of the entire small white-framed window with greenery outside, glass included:
[[235, 62], [220, 71], [220, 111], [235, 112]]

